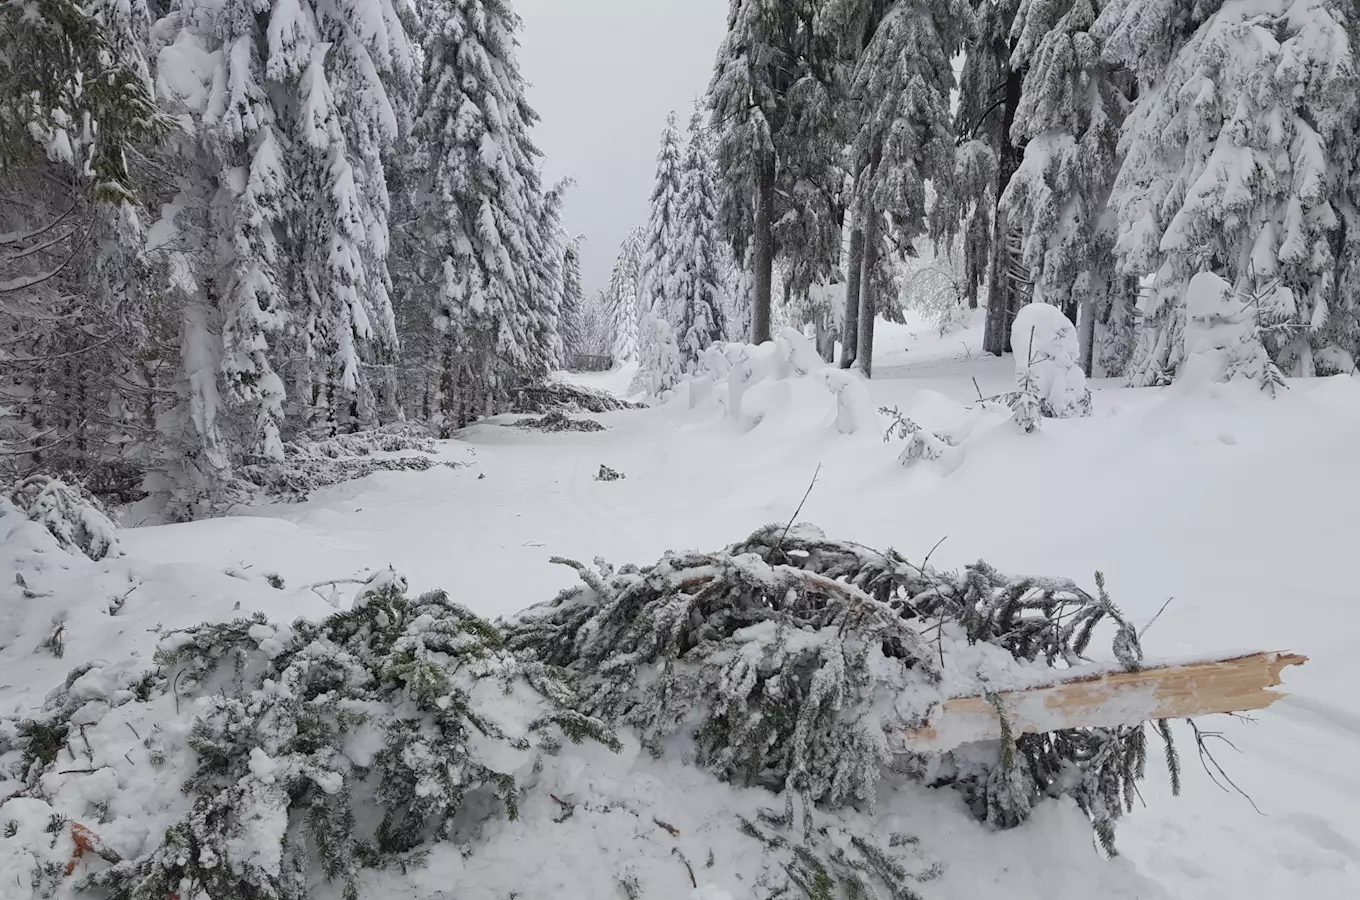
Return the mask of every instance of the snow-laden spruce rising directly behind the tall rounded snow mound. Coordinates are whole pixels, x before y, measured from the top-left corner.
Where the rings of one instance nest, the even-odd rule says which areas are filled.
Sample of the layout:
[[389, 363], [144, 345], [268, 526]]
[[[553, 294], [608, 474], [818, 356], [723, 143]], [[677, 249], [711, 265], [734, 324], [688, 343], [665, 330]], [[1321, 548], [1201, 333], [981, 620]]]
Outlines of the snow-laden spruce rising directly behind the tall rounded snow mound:
[[1024, 160], [1001, 197], [1006, 220], [1023, 235], [1031, 299], [1077, 324], [1087, 374], [1096, 319], [1108, 314], [1102, 306], [1111, 294], [1126, 294], [1115, 284], [1106, 200], [1130, 79], [1103, 58], [1091, 34], [1098, 8], [1099, 0], [1021, 0], [1010, 64], [1024, 69], [1012, 125]]

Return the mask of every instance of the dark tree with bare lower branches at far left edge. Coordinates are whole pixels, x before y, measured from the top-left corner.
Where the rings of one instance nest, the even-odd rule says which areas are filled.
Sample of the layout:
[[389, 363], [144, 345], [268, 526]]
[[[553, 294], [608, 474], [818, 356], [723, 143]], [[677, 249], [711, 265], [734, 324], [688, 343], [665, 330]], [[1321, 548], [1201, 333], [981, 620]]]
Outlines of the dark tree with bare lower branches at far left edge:
[[[0, 469], [135, 491], [152, 435], [129, 374], [148, 351], [144, 154], [167, 133], [146, 7], [0, 8]], [[99, 73], [99, 77], [91, 77]], [[151, 415], [154, 419], [154, 413]]]

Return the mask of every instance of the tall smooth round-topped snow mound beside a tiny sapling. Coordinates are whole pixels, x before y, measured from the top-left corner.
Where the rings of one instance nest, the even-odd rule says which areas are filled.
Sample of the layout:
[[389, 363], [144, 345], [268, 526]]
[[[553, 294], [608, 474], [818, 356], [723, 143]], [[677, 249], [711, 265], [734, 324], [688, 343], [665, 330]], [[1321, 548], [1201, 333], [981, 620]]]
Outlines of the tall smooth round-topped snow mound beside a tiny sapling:
[[1010, 326], [1016, 382], [1032, 390], [1039, 412], [1050, 419], [1091, 415], [1091, 392], [1081, 371], [1077, 328], [1057, 306], [1031, 303]]

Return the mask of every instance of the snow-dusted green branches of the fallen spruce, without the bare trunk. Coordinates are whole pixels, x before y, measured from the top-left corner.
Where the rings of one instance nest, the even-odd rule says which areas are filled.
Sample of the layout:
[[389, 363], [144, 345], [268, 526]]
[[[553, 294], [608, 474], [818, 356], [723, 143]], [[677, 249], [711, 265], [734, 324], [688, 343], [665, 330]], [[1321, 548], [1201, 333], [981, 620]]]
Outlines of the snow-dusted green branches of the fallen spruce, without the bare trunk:
[[[303, 900], [320, 878], [354, 900], [364, 869], [418, 865], [437, 842], [473, 840], [488, 814], [514, 818], [521, 778], [567, 741], [620, 749], [613, 727], [782, 794], [783, 810], [748, 829], [786, 877], [766, 885], [772, 896], [917, 897], [933, 870], [911, 842], [857, 837], [853, 817], [815, 821], [819, 808], [872, 812], [889, 764], [956, 787], [998, 828], [1072, 797], [1114, 852], [1146, 771], [1144, 726], [1017, 735], [1002, 715], [1000, 741], [944, 757], [895, 744], [942, 691], [970, 687], [971, 669], [1001, 692], [1012, 670], [1081, 663], [1100, 625], [1138, 668], [1137, 631], [1102, 576], [1089, 594], [985, 563], [940, 572], [805, 525], [642, 568], [559, 561], [583, 587], [500, 624], [442, 591], [412, 598], [386, 571], [324, 621], [257, 613], [169, 632], [151, 672], [78, 668], [7, 740], [30, 789], [63, 756], [92, 761], [76, 725], [97, 721], [87, 676], [118, 706], [189, 721], [186, 737], [137, 734], [151, 765], [188, 767], [189, 806], [152, 851], [106, 855], [78, 882], [112, 900]], [[1156, 727], [1175, 787], [1171, 730]]]

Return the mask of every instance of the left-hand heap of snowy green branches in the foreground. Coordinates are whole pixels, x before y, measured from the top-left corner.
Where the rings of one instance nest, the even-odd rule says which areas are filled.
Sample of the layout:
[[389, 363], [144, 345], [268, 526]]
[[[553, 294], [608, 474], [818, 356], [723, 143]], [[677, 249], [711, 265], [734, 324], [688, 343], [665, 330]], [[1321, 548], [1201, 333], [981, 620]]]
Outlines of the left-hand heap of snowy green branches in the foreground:
[[507, 651], [443, 593], [409, 598], [390, 571], [325, 621], [200, 625], [167, 634], [155, 661], [112, 702], [87, 703], [78, 688], [98, 673], [76, 670], [18, 735], [35, 784], [61, 765], [78, 719], [171, 693], [170, 708], [193, 710], [192, 808], [148, 852], [78, 885], [114, 900], [302, 900], [320, 877], [354, 899], [360, 869], [418, 863], [428, 842], [458, 839], [495, 808], [514, 817], [541, 753], [568, 740], [617, 746], [551, 668]]

